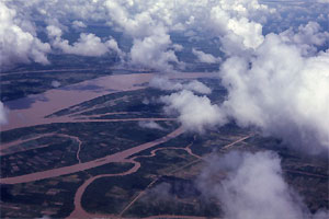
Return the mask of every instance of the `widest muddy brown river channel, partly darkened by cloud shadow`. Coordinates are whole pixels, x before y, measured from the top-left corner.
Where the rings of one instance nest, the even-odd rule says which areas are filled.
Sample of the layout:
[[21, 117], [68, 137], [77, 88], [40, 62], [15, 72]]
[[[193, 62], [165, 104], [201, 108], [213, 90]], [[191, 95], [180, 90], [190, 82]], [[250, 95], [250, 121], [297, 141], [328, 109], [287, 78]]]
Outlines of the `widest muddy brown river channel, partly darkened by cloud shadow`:
[[[49, 123], [66, 123], [68, 118], [45, 118], [45, 116], [113, 92], [143, 89], [138, 84], [150, 81], [154, 73], [134, 73], [106, 76], [66, 88], [53, 89], [42, 94], [30, 95], [24, 99], [5, 102], [10, 108], [9, 123], [1, 126], [1, 130], [35, 126]], [[209, 78], [215, 73], [178, 73], [169, 74], [171, 79]]]

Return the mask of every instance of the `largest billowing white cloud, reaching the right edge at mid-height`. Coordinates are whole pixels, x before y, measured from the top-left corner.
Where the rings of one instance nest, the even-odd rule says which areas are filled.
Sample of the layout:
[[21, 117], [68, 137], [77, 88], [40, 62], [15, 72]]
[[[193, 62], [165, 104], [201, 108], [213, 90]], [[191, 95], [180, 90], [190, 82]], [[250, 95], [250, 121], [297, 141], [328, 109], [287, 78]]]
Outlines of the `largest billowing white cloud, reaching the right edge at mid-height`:
[[303, 57], [270, 34], [249, 59], [231, 57], [220, 71], [228, 90], [220, 107], [240, 126], [257, 126], [308, 152], [329, 148], [329, 55]]

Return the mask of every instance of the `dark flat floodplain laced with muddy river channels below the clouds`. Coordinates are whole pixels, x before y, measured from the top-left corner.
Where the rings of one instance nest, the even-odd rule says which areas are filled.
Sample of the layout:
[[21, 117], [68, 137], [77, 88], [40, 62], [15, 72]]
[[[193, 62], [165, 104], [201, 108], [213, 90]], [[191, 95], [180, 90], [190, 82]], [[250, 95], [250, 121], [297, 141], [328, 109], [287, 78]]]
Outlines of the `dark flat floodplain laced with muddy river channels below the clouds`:
[[[1, 131], [1, 217], [218, 217], [220, 204], [205, 199], [195, 178], [211, 154], [231, 150], [277, 151], [285, 178], [309, 208], [328, 205], [326, 161], [234, 124], [186, 132], [163, 104], [149, 102], [170, 93], [149, 88], [152, 77], [110, 76], [9, 103], [14, 123]], [[212, 102], [225, 100], [215, 73], [172, 76], [195, 78], [213, 88]]]

